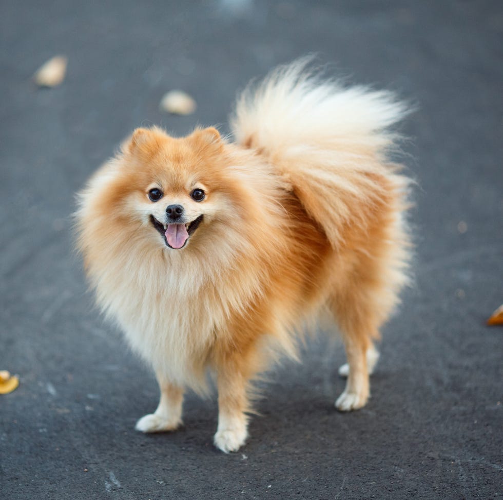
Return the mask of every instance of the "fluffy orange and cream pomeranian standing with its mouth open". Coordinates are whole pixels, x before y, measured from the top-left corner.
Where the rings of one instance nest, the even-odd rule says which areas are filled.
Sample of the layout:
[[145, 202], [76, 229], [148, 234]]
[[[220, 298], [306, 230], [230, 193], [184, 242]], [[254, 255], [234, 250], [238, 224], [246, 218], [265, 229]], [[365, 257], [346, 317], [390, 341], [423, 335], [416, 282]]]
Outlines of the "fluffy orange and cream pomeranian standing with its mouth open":
[[338, 326], [363, 407], [374, 340], [407, 282], [409, 179], [392, 162], [408, 110], [388, 92], [281, 67], [238, 99], [233, 139], [139, 128], [80, 193], [78, 248], [97, 301], [157, 375], [142, 432], [182, 422], [187, 388], [218, 388], [215, 445], [246, 441], [250, 384], [296, 333]]

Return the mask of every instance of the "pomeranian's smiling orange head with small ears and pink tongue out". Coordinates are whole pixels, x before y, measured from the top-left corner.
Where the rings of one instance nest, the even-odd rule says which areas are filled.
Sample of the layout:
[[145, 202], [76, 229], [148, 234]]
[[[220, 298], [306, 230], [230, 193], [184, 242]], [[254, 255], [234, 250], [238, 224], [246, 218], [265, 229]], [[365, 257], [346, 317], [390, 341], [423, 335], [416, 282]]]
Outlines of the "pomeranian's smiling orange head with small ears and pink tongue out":
[[129, 225], [141, 221], [144, 235], [155, 234], [160, 245], [183, 249], [203, 227], [229, 213], [223, 149], [214, 128], [184, 138], [137, 129], [123, 145], [115, 211], [124, 210]]

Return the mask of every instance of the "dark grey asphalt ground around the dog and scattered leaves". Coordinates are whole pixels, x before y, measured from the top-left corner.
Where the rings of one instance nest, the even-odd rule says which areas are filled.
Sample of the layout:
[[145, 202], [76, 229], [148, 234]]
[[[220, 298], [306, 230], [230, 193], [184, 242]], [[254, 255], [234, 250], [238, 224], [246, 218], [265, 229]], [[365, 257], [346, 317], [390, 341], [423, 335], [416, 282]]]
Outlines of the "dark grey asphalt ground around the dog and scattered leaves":
[[[501, 498], [501, 2], [0, 3], [0, 497]], [[417, 106], [403, 126], [417, 181], [415, 285], [385, 327], [372, 398], [333, 406], [340, 345], [270, 374], [247, 445], [212, 446], [216, 399], [143, 435], [158, 389], [95, 308], [72, 251], [74, 193], [140, 125], [220, 125], [250, 77], [306, 53]], [[31, 76], [68, 56], [64, 83]], [[197, 111], [159, 110], [180, 88]], [[215, 395], [214, 395], [215, 396]]]

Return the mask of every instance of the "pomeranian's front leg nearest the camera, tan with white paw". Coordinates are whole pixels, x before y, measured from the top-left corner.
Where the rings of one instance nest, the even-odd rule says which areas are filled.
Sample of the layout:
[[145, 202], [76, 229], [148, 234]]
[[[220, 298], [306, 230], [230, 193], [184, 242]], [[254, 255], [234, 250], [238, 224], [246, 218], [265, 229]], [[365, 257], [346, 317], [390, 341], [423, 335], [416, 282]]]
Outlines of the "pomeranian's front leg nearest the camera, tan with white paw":
[[248, 436], [248, 381], [237, 363], [229, 362], [217, 373], [218, 429], [215, 446], [224, 453], [237, 451]]

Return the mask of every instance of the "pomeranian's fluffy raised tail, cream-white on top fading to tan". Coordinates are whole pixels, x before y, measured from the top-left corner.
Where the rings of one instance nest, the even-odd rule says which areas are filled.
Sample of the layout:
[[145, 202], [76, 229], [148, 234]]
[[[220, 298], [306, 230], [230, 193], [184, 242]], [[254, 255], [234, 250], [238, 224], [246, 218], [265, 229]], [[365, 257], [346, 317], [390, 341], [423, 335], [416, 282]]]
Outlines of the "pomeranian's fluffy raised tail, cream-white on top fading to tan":
[[[280, 67], [238, 98], [236, 142], [281, 172], [334, 247], [344, 228], [367, 226], [382, 203], [404, 200], [407, 178], [390, 153], [392, 130], [409, 109], [393, 94], [345, 88], [308, 69], [311, 59]], [[395, 207], [395, 212], [400, 212]]]

